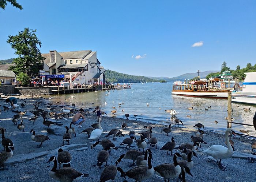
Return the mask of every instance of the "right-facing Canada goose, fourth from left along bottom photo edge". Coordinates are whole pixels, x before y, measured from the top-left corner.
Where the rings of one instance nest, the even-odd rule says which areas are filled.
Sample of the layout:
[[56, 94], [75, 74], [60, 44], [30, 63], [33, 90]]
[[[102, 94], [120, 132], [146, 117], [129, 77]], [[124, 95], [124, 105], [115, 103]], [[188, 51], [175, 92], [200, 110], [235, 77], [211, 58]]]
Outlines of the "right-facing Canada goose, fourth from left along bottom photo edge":
[[173, 164], [165, 163], [154, 167], [155, 173], [165, 179], [177, 178], [181, 172], [181, 167], [178, 165], [177, 157], [181, 157], [179, 153], [175, 153], [173, 156]]

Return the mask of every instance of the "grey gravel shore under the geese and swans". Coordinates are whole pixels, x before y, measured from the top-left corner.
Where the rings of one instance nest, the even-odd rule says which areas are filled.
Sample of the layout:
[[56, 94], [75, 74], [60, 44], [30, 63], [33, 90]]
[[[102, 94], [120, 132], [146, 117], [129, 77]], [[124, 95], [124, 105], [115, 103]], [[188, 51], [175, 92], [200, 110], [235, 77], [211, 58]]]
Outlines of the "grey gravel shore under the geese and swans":
[[[25, 103], [26, 101], [26, 103]], [[35, 99], [35, 98], [20, 98], [18, 100], [18, 104], [25, 103], [25, 107], [21, 108], [21, 111], [27, 111], [27, 114], [22, 117], [25, 124], [25, 132], [20, 132], [17, 129], [17, 126], [12, 123], [12, 117], [14, 116], [14, 112], [9, 110], [8, 112], [4, 112], [2, 107], [1, 111], [1, 122], [0, 127], [4, 127], [7, 131], [5, 132], [5, 137], [10, 137], [14, 142], [15, 150], [13, 158], [15, 155], [22, 155], [22, 154], [34, 154], [34, 153], [41, 153], [47, 152], [47, 155], [42, 157], [37, 157], [25, 162], [20, 163], [12, 163], [7, 167], [9, 170], [0, 171], [1, 181], [54, 181], [52, 178], [49, 177], [49, 171], [53, 167], [53, 162], [46, 163], [52, 155], [57, 157], [57, 152], [54, 152], [54, 149], [61, 147], [63, 140], [62, 135], [52, 135], [46, 132], [47, 126], [42, 124], [43, 119], [41, 117], [38, 118], [35, 124], [29, 121], [30, 118], [34, 117], [33, 114], [29, 111], [33, 111], [32, 103], [35, 101], [41, 102], [39, 108], [43, 110], [48, 110], [46, 108], [47, 103], [50, 100], [47, 99]], [[1, 101], [0, 104], [4, 104], [4, 99]], [[52, 103], [56, 105], [57, 113], [61, 112], [59, 106], [60, 103]], [[71, 106], [70, 106], [71, 107]], [[90, 149], [90, 146], [95, 143], [95, 141], [90, 141], [87, 139], [87, 135], [79, 134], [87, 127], [90, 127], [91, 124], [95, 123], [97, 120], [94, 114], [87, 114], [86, 121], [83, 123], [82, 128], [78, 128], [75, 126], [76, 135], [77, 137], [72, 137], [70, 144], [83, 144], [83, 146], [87, 146], [88, 148], [83, 148], [82, 151], [74, 151], [75, 149], [68, 150], [72, 155], [71, 167], [83, 172], [88, 173], [89, 177], [84, 177], [81, 181], [99, 181], [99, 177], [101, 175], [102, 169], [99, 169], [97, 166], [97, 155], [98, 152], [102, 150], [102, 147], [98, 145], [94, 149]], [[61, 128], [59, 131], [65, 132], [64, 127], [69, 126], [69, 123], [72, 121], [72, 116], [67, 120], [59, 119], [59, 122], [63, 123], [63, 126], [57, 126], [57, 128]], [[121, 129], [121, 124], [126, 122], [128, 128], [126, 130]], [[198, 121], [200, 122], [200, 121]], [[18, 124], [20, 123], [20, 119]], [[164, 127], [167, 127], [171, 123], [173, 131], [169, 133], [169, 137], [162, 131]], [[136, 138], [139, 138], [138, 132], [143, 131], [143, 126], [148, 125], [149, 123], [138, 122], [137, 120], [130, 120], [130, 119], [121, 119], [115, 117], [102, 117], [101, 126], [103, 128], [103, 133], [100, 137], [101, 139], [105, 139], [105, 135], [112, 129], [118, 128], [123, 132], [125, 137], [117, 138], [117, 141], [113, 143], [118, 147], [118, 150], [112, 150], [111, 154], [109, 155], [108, 164], [115, 165], [116, 160], [120, 157], [121, 154], [125, 154], [127, 149], [125, 147], [120, 146], [119, 144], [123, 141], [124, 138], [129, 137], [129, 131], [134, 130], [136, 132]], [[153, 128], [154, 137], [158, 139], [158, 149], [154, 147], [151, 148], [153, 152], [153, 161], [152, 165], [157, 166], [162, 163], [173, 163], [173, 156], [166, 155], [166, 151], [160, 150], [166, 142], [169, 142], [171, 137], [174, 137], [174, 141], [177, 145], [181, 145], [182, 143], [192, 143], [191, 142], [191, 135], [195, 136], [196, 128], [187, 128], [186, 123], [184, 126], [175, 127], [175, 123], [173, 124], [172, 121], [165, 122], [163, 124], [151, 124], [155, 128]], [[73, 125], [74, 126], [74, 125]], [[55, 126], [53, 128], [56, 128]], [[30, 139], [29, 131], [31, 129], [35, 130], [35, 134], [44, 134], [48, 135], [50, 138], [48, 141], [45, 141], [43, 145], [38, 149], [36, 148], [38, 143], [34, 142]], [[112, 137], [108, 137], [111, 141], [113, 141]], [[191, 170], [193, 177], [186, 175], [187, 181], [240, 181], [240, 182], [248, 182], [248, 181], [256, 181], [256, 163], [249, 162], [246, 158], [228, 158], [223, 159], [223, 165], [227, 166], [227, 171], [219, 170], [217, 163], [208, 158], [208, 156], [202, 153], [202, 150], [207, 149], [212, 145], [223, 145], [225, 146], [225, 136], [223, 133], [212, 132], [208, 131], [205, 128], [204, 140], [207, 144], [202, 144], [202, 149], [196, 151], [198, 158], [193, 157], [194, 167]], [[248, 139], [246, 137], [232, 137], [234, 141], [234, 149], [235, 151], [242, 152], [242, 153], [251, 153], [251, 144], [255, 142], [255, 140]], [[1, 148], [2, 146], [0, 146]], [[147, 145], [149, 147], [149, 144]], [[1, 148], [2, 150], [3, 148]], [[137, 149], [135, 145], [131, 147], [131, 149]], [[174, 150], [173, 153], [175, 153]], [[256, 156], [255, 156], [256, 158]], [[181, 158], [178, 160], [181, 160]], [[8, 161], [7, 161], [8, 162]], [[122, 159], [122, 161], [118, 164], [124, 171], [131, 169], [129, 164], [131, 164], [131, 160]], [[153, 175], [150, 179], [146, 181], [164, 181], [163, 178], [159, 178], [157, 175]], [[124, 181], [123, 177], [120, 177], [120, 173], [117, 173], [115, 181], [121, 182]], [[134, 181], [127, 177], [127, 181]], [[179, 179], [173, 179], [173, 181], [179, 181]]]

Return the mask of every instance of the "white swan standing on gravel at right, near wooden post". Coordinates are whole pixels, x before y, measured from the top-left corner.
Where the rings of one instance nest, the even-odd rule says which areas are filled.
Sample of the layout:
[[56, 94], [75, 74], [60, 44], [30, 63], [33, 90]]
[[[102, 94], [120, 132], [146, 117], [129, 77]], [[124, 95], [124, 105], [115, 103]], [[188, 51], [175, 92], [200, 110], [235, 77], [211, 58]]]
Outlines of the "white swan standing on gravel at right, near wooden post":
[[211, 155], [214, 159], [216, 159], [219, 169], [221, 170], [226, 170], [225, 167], [221, 164], [221, 159], [229, 158], [234, 153], [234, 150], [232, 149], [229, 142], [229, 133], [232, 133], [233, 135], [235, 135], [235, 132], [231, 130], [231, 128], [226, 129], [225, 139], [226, 139], [227, 147], [224, 147], [222, 145], [213, 145], [209, 149], [206, 149], [203, 151], [204, 153]]

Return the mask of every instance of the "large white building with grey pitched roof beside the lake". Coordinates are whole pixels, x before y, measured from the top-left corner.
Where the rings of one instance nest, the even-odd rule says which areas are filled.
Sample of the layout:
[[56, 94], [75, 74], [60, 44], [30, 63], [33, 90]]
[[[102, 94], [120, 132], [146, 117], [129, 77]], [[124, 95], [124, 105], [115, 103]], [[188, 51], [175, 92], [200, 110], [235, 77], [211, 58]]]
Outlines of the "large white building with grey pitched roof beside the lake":
[[65, 80], [86, 84], [98, 82], [105, 83], [105, 69], [97, 59], [97, 52], [94, 51], [71, 51], [57, 52], [50, 51], [42, 54], [45, 57], [44, 70], [50, 75], [65, 75]]

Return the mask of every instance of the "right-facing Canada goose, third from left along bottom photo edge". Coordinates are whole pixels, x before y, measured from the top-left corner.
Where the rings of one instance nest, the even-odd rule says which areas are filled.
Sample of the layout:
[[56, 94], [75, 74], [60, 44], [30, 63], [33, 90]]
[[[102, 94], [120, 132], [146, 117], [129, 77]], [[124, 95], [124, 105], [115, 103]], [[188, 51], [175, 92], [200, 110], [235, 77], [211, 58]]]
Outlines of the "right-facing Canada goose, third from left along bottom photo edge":
[[144, 165], [136, 166], [127, 172], [124, 172], [120, 167], [118, 167], [117, 170], [120, 171], [121, 177], [125, 178], [126, 176], [128, 176], [129, 178], [142, 182], [148, 178], [151, 178], [154, 174], [154, 168], [151, 165], [151, 159], [153, 159], [152, 153], [148, 153], [148, 159], [147, 159], [148, 166], [144, 166]]

